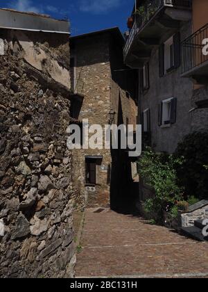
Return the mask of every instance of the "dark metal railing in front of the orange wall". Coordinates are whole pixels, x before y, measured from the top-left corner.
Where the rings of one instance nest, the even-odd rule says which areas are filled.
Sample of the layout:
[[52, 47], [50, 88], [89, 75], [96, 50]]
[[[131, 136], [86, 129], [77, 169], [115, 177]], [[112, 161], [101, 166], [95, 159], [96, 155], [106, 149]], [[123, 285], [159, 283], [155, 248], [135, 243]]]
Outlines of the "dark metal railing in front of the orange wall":
[[205, 48], [207, 43], [208, 24], [182, 42], [182, 74], [208, 61], [208, 53]]

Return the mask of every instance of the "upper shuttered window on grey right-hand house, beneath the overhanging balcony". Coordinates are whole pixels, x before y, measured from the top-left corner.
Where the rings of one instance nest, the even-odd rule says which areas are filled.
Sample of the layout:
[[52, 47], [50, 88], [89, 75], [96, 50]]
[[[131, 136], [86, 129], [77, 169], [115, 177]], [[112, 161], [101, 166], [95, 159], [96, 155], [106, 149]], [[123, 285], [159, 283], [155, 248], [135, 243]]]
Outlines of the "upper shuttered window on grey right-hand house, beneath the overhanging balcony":
[[176, 33], [159, 47], [159, 76], [180, 67], [180, 33]]

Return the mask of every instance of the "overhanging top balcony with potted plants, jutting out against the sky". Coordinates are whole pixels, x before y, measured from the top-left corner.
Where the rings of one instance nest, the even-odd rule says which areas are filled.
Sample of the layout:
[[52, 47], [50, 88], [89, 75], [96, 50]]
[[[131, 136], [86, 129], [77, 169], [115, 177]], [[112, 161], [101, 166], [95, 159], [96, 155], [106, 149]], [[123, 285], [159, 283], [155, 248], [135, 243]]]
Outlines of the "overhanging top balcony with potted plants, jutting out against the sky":
[[134, 24], [123, 49], [126, 65], [142, 67], [154, 47], [178, 31], [182, 22], [189, 21], [191, 0], [139, 1]]

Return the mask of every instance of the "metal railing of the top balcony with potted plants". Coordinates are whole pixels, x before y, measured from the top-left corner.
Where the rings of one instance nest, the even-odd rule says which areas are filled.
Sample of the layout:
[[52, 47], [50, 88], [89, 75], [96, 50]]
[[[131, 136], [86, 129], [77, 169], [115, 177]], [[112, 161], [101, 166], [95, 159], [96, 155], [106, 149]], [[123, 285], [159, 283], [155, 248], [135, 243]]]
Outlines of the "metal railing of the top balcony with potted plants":
[[191, 0], [146, 0], [144, 5], [138, 8], [139, 11], [135, 13], [135, 22], [123, 49], [124, 58], [128, 54], [135, 35], [144, 28], [162, 7], [191, 8], [191, 2]]

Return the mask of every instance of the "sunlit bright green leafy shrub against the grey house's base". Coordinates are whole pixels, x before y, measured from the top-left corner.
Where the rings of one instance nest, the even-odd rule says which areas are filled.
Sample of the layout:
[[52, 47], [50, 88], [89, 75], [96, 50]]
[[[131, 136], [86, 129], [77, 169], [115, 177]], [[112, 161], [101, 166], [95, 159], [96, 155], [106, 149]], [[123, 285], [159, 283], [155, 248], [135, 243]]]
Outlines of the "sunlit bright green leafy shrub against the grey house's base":
[[157, 154], [150, 148], [141, 154], [138, 161], [139, 175], [155, 190], [155, 197], [146, 200], [145, 211], [154, 211], [162, 219], [167, 204], [175, 204], [182, 199], [183, 188], [177, 186], [175, 165], [181, 164], [173, 155]]

